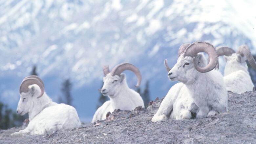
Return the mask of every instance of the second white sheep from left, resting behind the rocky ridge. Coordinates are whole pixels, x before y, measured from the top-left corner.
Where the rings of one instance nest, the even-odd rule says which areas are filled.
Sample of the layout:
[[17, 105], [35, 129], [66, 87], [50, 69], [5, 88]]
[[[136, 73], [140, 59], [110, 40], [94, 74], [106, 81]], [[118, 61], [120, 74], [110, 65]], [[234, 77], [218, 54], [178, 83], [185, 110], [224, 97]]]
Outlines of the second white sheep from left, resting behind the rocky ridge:
[[106, 101], [97, 109], [93, 116], [92, 123], [97, 120], [106, 119], [107, 112], [113, 112], [115, 109], [134, 110], [138, 106], [144, 108], [144, 102], [139, 93], [130, 89], [126, 82], [126, 75], [122, 73], [125, 70], [134, 72], [138, 78], [136, 87], [141, 83], [141, 74], [139, 69], [130, 63], [122, 63], [117, 65], [111, 72], [109, 66], [103, 67], [104, 85], [101, 93], [108, 96], [110, 100]]

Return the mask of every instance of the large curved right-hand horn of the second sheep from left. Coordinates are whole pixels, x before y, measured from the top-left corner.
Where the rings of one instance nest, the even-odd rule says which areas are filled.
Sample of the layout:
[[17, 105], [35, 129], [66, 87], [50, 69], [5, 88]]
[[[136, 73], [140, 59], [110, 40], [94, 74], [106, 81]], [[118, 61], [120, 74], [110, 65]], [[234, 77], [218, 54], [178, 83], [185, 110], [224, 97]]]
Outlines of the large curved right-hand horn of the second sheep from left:
[[140, 83], [141, 83], [141, 74], [139, 72], [139, 69], [137, 67], [135, 67], [134, 65], [130, 64], [130, 63], [122, 63], [122, 64], [119, 64], [117, 65], [115, 68], [113, 68], [113, 70], [111, 71], [112, 73], [112, 76], [114, 75], [118, 75], [120, 76], [120, 74], [125, 71], [125, 70], [130, 70], [132, 72], [135, 73], [135, 75], [137, 76], [138, 78], [138, 82], [136, 84], [136, 87], [139, 87], [140, 86]]

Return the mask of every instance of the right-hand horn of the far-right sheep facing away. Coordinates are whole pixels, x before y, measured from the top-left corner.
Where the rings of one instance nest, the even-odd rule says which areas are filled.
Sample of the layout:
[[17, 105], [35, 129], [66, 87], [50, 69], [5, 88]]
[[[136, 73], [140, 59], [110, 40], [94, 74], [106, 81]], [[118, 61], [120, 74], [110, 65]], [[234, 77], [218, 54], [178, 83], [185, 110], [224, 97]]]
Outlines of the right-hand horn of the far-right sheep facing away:
[[247, 45], [241, 45], [238, 48], [237, 54], [240, 54], [241, 56], [245, 56], [251, 65], [251, 67], [256, 70], [256, 62], [251, 54], [251, 51]]

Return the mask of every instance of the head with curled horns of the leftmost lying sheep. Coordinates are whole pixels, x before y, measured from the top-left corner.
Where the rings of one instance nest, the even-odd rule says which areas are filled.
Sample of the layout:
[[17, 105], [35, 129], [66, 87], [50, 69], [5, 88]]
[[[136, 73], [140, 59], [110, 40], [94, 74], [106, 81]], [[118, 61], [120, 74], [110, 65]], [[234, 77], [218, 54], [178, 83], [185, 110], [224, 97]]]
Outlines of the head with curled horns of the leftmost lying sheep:
[[27, 76], [20, 85], [20, 100], [17, 113], [24, 115], [29, 112], [33, 100], [40, 98], [44, 94], [44, 83], [35, 75]]

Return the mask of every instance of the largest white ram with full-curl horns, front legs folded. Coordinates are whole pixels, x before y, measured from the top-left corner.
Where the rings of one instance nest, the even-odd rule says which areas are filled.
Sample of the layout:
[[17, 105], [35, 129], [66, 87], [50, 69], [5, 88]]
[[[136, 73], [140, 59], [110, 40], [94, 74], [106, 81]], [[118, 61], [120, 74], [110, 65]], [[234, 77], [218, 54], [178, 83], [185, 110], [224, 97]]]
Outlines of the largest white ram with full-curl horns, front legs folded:
[[[208, 54], [209, 64], [199, 52]], [[196, 118], [204, 118], [226, 112], [227, 90], [223, 76], [218, 71], [212, 71], [217, 62], [216, 50], [207, 42], [183, 44], [172, 69], [165, 60], [168, 78], [181, 83], [169, 90], [152, 121], [163, 121], [168, 117], [190, 119], [192, 113], [196, 113]]]

